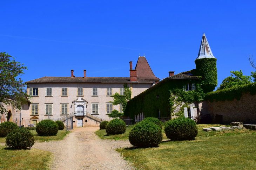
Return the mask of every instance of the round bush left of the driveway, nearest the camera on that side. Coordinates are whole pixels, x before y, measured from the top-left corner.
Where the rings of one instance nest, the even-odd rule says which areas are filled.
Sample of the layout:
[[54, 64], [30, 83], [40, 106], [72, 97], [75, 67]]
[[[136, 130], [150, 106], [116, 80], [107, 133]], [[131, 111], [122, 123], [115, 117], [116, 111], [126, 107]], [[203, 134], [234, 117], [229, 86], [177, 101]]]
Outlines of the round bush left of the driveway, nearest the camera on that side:
[[6, 136], [6, 146], [14, 149], [31, 148], [35, 143], [34, 135], [25, 128], [12, 130]]

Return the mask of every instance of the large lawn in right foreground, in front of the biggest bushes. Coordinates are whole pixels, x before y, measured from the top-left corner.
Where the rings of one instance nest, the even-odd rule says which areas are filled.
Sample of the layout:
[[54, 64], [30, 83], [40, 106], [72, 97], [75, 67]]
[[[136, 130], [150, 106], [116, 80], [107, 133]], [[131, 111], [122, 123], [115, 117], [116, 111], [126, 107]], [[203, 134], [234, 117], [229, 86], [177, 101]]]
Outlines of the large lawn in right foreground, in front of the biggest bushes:
[[116, 149], [145, 170], [256, 169], [256, 135], [218, 135], [193, 141], [164, 141], [157, 148]]

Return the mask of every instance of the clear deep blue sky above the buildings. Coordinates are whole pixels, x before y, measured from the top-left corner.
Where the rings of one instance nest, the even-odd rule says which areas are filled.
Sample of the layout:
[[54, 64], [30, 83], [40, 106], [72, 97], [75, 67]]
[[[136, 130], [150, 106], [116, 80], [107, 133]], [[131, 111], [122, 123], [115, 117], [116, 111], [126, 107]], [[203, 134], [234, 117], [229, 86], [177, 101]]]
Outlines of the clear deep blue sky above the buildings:
[[256, 1], [1, 1], [0, 51], [25, 63], [24, 81], [44, 77], [129, 77], [145, 54], [155, 76], [195, 68], [203, 33], [230, 71], [255, 71]]

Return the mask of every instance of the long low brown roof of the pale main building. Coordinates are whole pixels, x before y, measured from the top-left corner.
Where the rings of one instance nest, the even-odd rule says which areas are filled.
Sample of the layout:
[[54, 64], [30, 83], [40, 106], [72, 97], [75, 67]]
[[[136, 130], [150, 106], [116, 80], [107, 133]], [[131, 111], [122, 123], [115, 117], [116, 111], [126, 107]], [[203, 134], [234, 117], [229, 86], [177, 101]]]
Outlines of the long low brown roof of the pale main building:
[[[25, 83], [130, 83], [130, 77], [42, 77]], [[153, 82], [137, 78], [137, 83]]]

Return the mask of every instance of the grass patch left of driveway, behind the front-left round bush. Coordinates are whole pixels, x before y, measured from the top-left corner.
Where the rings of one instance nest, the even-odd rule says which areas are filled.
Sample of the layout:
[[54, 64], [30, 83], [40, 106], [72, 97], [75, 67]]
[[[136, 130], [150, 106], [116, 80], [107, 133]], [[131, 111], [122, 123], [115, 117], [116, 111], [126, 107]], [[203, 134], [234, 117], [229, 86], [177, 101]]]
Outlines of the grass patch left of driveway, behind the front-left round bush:
[[[52, 140], [55, 140], [55, 141], [62, 140], [69, 133], [69, 131], [66, 131], [66, 130], [59, 130], [56, 136], [38, 136], [38, 134], [36, 133], [35, 130], [30, 130], [30, 132], [32, 132], [34, 134], [36, 142], [45, 142], [45, 141], [48, 142], [48, 141], [52, 141]], [[5, 137], [0, 137], [0, 143], [4, 143], [4, 142], [5, 142]]]

